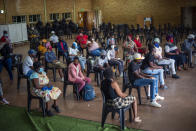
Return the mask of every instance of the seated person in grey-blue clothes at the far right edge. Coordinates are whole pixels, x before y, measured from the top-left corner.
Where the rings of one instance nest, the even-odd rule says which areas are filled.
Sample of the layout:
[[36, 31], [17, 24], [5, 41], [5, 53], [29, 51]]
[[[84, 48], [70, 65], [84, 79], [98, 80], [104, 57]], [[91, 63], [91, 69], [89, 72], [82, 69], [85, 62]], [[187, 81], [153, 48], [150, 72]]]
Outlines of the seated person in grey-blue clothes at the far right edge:
[[194, 41], [195, 36], [193, 34], [188, 35], [187, 39], [184, 41], [182, 45], [182, 50], [188, 56], [188, 64], [191, 68], [192, 65], [192, 55], [193, 55], [193, 47], [196, 49], [196, 43]]

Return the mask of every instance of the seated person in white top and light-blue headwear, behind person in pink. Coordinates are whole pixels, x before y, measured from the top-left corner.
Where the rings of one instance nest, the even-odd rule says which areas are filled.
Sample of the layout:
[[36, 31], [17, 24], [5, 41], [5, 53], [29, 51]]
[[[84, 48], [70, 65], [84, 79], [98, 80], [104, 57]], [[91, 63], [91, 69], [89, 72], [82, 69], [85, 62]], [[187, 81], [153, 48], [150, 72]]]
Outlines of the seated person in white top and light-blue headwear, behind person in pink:
[[82, 70], [85, 70], [85, 64], [86, 64], [86, 58], [79, 56], [79, 50], [78, 50], [78, 45], [76, 42], [73, 42], [72, 46], [69, 47], [69, 58], [71, 59], [71, 61], [74, 60], [74, 57], [78, 56], [79, 61], [80, 61], [80, 65]]

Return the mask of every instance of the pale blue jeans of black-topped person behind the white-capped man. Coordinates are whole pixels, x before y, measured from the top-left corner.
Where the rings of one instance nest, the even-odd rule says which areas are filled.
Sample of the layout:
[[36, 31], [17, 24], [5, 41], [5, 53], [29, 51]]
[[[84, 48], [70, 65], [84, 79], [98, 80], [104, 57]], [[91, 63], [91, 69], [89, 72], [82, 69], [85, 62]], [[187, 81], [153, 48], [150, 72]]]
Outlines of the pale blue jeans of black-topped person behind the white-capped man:
[[150, 68], [146, 68], [143, 70], [143, 73], [149, 74], [149, 75], [158, 75], [159, 76], [159, 80], [160, 80], [160, 85], [165, 85], [165, 81], [164, 81], [164, 70], [163, 69], [150, 69]]

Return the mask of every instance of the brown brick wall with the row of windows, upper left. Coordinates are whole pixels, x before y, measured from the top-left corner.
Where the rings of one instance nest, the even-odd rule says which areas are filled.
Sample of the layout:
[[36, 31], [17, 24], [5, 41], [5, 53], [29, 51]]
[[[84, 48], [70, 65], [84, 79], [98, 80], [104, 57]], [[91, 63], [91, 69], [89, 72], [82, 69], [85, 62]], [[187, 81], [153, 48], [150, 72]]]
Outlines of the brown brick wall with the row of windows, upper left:
[[[5, 0], [7, 9], [7, 24], [12, 23], [12, 16], [40, 14], [45, 22], [44, 0]], [[3, 0], [0, 0], [0, 9], [3, 8]], [[75, 7], [75, 8], [74, 8]], [[50, 21], [50, 13], [72, 12], [72, 19], [77, 21], [79, 11], [91, 11], [92, 0], [46, 0], [46, 16]], [[75, 16], [74, 15], [75, 12]], [[60, 14], [61, 18], [61, 14]], [[4, 24], [4, 15], [0, 14], [0, 24]], [[27, 17], [28, 23], [28, 17]]]

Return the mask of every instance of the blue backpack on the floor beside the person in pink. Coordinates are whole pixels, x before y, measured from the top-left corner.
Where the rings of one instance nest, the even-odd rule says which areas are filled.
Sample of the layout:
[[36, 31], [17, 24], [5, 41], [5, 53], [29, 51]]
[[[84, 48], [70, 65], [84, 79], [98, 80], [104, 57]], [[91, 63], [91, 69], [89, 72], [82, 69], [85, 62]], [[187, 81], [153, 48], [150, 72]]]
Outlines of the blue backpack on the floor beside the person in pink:
[[84, 86], [83, 99], [85, 101], [90, 101], [90, 100], [93, 100], [94, 98], [95, 98], [94, 88], [91, 85], [86, 84]]

